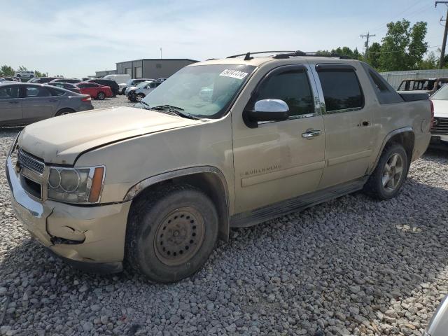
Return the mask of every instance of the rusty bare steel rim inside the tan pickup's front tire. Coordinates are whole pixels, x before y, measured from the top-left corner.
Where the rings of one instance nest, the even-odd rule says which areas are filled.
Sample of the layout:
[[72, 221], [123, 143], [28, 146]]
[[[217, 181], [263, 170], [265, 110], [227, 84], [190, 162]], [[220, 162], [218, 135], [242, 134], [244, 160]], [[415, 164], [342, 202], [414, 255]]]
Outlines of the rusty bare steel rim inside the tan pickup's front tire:
[[158, 227], [155, 255], [165, 265], [182, 265], [197, 253], [204, 233], [204, 218], [198, 211], [192, 207], [176, 209]]

